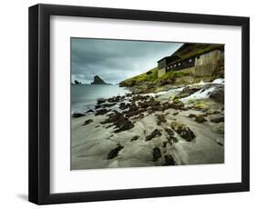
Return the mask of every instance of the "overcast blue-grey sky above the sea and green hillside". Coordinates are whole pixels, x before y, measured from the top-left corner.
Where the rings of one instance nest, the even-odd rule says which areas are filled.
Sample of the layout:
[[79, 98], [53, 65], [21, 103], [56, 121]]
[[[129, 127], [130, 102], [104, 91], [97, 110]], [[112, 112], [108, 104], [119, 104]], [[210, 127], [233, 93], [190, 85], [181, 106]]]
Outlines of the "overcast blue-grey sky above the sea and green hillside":
[[72, 82], [90, 84], [95, 75], [118, 84], [147, 72], [176, 51], [179, 43], [71, 38]]

